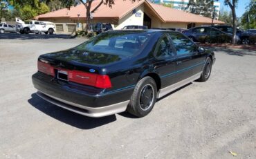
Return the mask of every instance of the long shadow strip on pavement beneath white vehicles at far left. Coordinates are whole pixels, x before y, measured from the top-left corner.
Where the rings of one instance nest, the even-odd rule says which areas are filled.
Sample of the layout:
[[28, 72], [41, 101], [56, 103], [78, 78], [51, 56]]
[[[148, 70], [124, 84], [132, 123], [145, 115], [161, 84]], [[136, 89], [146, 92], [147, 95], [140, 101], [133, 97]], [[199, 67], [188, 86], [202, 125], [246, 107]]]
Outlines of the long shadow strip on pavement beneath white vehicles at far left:
[[0, 39], [72, 39], [72, 35], [39, 35], [39, 34], [16, 34], [16, 33], [3, 33], [0, 34]]

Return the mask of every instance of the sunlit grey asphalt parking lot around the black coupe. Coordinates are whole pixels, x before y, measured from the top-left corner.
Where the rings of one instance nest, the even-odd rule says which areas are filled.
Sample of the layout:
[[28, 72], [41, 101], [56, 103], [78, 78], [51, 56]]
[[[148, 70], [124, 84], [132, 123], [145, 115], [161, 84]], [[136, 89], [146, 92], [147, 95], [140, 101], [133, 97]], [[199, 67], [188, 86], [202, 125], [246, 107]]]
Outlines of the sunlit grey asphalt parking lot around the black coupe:
[[145, 118], [87, 118], [40, 99], [31, 82], [39, 55], [85, 39], [42, 36], [0, 35], [0, 158], [256, 158], [256, 52], [215, 48], [208, 82]]

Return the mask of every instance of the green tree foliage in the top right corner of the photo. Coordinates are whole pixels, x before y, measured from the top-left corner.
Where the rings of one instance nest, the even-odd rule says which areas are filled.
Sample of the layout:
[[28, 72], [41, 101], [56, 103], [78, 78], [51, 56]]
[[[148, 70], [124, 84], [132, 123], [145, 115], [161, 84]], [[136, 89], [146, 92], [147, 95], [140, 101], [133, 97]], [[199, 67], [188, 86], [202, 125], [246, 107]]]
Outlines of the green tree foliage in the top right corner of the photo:
[[246, 6], [246, 12], [241, 16], [241, 26], [243, 28], [256, 28], [256, 1], [250, 0]]

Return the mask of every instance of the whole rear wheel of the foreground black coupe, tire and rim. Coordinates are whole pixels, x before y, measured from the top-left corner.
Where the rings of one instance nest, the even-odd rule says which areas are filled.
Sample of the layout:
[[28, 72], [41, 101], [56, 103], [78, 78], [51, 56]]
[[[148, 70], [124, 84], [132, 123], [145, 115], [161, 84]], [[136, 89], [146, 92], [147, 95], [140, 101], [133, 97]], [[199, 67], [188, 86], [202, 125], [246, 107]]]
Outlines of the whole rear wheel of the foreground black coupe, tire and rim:
[[144, 77], [136, 84], [127, 111], [136, 117], [144, 117], [152, 111], [156, 103], [156, 82], [152, 77]]

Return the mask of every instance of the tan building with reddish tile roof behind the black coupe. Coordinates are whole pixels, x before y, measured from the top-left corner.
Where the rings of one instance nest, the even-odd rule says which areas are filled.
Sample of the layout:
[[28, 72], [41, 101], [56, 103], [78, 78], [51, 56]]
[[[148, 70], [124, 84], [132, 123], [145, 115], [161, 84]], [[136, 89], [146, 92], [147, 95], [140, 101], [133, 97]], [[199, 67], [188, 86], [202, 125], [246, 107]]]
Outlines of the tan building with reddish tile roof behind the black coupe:
[[[93, 1], [91, 8], [95, 8], [98, 3], [100, 3], [99, 0]], [[56, 24], [57, 32], [74, 32], [80, 29], [80, 26], [82, 28], [86, 26], [86, 8], [81, 4], [69, 10], [64, 8], [48, 12], [37, 16], [36, 19], [52, 21]], [[147, 26], [148, 28], [191, 28], [211, 24], [212, 19], [147, 0], [133, 3], [129, 0], [116, 0], [112, 8], [102, 5], [92, 14], [92, 23], [97, 22], [113, 24], [115, 29], [121, 29], [127, 25]], [[213, 23], [223, 24], [223, 21], [214, 20]]]

